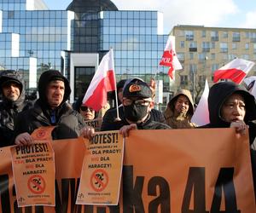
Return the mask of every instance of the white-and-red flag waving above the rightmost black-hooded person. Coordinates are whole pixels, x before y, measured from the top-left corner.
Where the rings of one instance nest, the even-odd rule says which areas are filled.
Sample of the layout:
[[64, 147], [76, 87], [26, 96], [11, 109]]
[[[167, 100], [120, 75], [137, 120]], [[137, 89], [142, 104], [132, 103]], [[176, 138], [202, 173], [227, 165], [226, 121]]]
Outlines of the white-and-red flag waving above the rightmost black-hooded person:
[[228, 64], [214, 72], [213, 82], [216, 83], [220, 79], [230, 79], [239, 84], [247, 76], [247, 73], [253, 68], [254, 64], [255, 63], [250, 60], [231, 60]]

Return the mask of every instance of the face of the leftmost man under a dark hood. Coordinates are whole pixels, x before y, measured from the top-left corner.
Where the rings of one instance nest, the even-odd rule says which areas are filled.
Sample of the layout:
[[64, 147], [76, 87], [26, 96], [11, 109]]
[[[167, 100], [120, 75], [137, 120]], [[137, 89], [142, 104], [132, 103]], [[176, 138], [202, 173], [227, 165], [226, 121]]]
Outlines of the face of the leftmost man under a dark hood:
[[16, 101], [20, 97], [19, 83], [11, 82], [3, 84], [3, 96], [9, 101]]

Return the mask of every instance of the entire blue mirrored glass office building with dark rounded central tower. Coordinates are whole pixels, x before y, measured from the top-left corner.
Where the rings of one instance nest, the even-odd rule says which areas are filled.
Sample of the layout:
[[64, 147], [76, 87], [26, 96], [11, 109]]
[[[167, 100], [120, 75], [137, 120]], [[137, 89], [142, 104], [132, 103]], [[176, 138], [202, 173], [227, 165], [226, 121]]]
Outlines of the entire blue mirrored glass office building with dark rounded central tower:
[[96, 67], [113, 48], [117, 80], [164, 80], [158, 66], [166, 45], [158, 11], [119, 10], [109, 0], [73, 0], [67, 10], [49, 10], [43, 0], [0, 0], [0, 69], [19, 70], [26, 89], [51, 68], [69, 78], [71, 102], [83, 95]]

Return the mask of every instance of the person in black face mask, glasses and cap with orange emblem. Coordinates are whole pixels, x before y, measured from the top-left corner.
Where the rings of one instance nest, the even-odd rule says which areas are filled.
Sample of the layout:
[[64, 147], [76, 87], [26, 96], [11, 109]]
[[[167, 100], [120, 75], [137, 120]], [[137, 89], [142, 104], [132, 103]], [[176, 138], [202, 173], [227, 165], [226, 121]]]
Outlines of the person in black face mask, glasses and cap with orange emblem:
[[[146, 105], [137, 104], [136, 101], [145, 101]], [[128, 102], [129, 104], [127, 104]], [[170, 129], [168, 125], [157, 122], [157, 119], [160, 119], [160, 114], [152, 112], [153, 104], [152, 90], [148, 84], [137, 78], [131, 79], [123, 91], [122, 106], [119, 107], [120, 120], [104, 123], [108, 117], [104, 118], [102, 130], [119, 130], [129, 124], [136, 124], [139, 130]], [[113, 114], [116, 113], [114, 110], [112, 112]]]

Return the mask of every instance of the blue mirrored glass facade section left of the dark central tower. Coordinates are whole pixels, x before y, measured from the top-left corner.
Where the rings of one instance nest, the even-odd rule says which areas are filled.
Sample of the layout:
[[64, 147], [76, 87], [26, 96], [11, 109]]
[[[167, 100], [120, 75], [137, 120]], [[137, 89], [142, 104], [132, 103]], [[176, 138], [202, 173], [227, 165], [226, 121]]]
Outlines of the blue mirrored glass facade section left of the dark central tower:
[[[37, 4], [41, 5], [39, 1], [35, 2]], [[73, 12], [26, 9], [26, 0], [15, 0], [15, 3], [0, 0], [0, 68], [23, 72], [28, 88], [36, 84], [29, 79], [30, 58], [37, 59], [38, 77], [49, 67], [61, 70], [61, 50], [70, 50], [71, 47]]]

